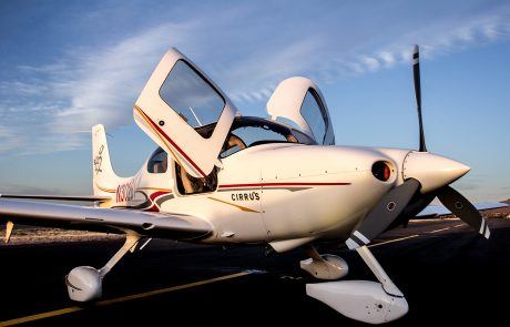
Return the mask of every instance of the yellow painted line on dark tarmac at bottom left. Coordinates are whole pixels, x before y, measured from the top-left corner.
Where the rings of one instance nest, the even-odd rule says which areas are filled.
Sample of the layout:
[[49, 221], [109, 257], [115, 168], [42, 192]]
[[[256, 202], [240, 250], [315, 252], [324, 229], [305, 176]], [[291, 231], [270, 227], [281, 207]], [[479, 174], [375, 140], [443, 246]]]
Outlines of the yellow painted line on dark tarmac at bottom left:
[[[122, 302], [128, 302], [128, 300], [132, 300], [132, 299], [140, 299], [140, 298], [144, 298], [144, 297], [151, 297], [151, 296], [155, 296], [155, 295], [160, 295], [160, 294], [164, 294], [164, 293], [171, 293], [171, 292], [181, 290], [181, 289], [185, 289], [185, 288], [192, 288], [192, 287], [197, 287], [197, 286], [202, 286], [202, 285], [206, 285], [206, 284], [212, 284], [212, 283], [216, 283], [216, 282], [238, 278], [238, 277], [243, 277], [243, 276], [246, 276], [246, 275], [249, 275], [249, 274], [252, 274], [252, 273], [242, 272], [242, 273], [225, 275], [225, 276], [221, 276], [221, 277], [216, 277], [216, 278], [200, 280], [200, 282], [195, 282], [195, 283], [190, 283], [190, 284], [184, 284], [184, 285], [178, 285], [178, 286], [172, 286], [172, 287], [150, 290], [150, 292], [140, 293], [140, 294], [128, 295], [128, 296], [112, 298], [112, 299], [104, 299], [104, 300], [100, 300], [100, 302], [95, 303], [94, 307], [108, 306], [108, 305], [118, 304], [118, 303], [122, 303]], [[0, 321], [0, 326], [2, 326], [2, 327], [4, 327], [4, 326], [14, 326], [14, 325], [20, 325], [20, 324], [30, 323], [30, 321], [34, 321], [34, 320], [40, 320], [40, 319], [44, 319], [44, 318], [57, 317], [57, 316], [62, 316], [62, 315], [67, 315], [67, 314], [75, 313], [75, 311], [81, 311], [81, 310], [84, 310], [84, 309], [85, 309], [84, 307], [73, 306], [73, 307], [68, 307], [68, 308], [63, 308], [63, 309], [59, 309], [59, 310], [53, 310], [53, 311], [48, 311], [48, 313], [30, 315], [30, 316], [26, 316], [26, 317], [20, 317], [20, 318], [16, 318], [16, 319], [10, 319], [10, 320], [6, 320], [6, 321]]]

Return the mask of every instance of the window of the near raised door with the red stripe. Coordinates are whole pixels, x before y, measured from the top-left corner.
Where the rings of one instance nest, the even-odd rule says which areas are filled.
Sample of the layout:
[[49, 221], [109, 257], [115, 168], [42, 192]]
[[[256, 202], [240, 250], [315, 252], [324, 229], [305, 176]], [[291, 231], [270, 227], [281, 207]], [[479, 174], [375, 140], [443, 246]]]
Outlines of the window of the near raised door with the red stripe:
[[225, 106], [223, 96], [184, 60], [175, 63], [160, 96], [192, 127], [217, 122]]

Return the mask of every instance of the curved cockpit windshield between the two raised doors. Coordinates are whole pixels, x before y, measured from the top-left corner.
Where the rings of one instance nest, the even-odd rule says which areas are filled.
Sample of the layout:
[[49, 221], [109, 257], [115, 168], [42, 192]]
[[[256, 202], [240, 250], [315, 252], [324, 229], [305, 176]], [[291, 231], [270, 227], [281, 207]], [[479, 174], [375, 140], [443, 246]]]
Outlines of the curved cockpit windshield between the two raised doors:
[[282, 124], [258, 117], [241, 117], [234, 121], [220, 156], [226, 157], [241, 150], [268, 143], [316, 144], [306, 134]]

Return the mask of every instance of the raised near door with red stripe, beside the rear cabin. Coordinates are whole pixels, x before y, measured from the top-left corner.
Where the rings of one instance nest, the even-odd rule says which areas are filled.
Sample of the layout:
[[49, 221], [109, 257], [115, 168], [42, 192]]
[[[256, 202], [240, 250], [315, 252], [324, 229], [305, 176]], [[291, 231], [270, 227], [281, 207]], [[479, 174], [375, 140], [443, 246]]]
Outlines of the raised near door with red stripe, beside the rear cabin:
[[[237, 110], [187, 58], [171, 49], [136, 100], [136, 124], [194, 177], [218, 161]], [[216, 123], [206, 135], [195, 129]]]

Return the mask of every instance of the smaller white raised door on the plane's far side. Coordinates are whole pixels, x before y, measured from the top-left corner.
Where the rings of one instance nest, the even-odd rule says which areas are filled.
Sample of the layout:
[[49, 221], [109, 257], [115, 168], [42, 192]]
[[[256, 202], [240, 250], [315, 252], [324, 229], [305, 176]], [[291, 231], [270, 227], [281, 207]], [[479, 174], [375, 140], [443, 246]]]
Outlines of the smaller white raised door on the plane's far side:
[[326, 101], [309, 79], [296, 76], [280, 82], [267, 102], [267, 113], [272, 120], [289, 120], [318, 144], [335, 144]]

